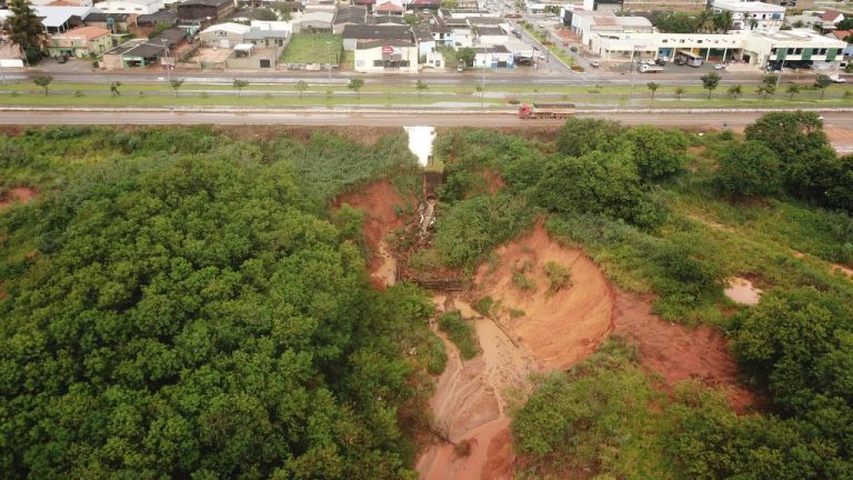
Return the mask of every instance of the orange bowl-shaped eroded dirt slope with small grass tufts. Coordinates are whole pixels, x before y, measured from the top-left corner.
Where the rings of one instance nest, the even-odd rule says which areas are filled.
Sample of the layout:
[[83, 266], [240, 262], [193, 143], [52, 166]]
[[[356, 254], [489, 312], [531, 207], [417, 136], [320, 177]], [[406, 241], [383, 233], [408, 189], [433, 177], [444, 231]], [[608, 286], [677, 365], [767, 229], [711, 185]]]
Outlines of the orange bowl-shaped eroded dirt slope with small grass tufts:
[[[478, 296], [500, 301], [501, 321], [536, 360], [540, 369], [565, 369], [590, 356], [613, 328], [613, 293], [604, 274], [580, 250], [551, 239], [542, 226], [495, 251], [496, 268], [476, 271]], [[549, 292], [545, 264], [571, 271], [571, 283]], [[523, 290], [513, 277], [523, 273], [535, 290]], [[512, 319], [511, 311], [523, 316]]]

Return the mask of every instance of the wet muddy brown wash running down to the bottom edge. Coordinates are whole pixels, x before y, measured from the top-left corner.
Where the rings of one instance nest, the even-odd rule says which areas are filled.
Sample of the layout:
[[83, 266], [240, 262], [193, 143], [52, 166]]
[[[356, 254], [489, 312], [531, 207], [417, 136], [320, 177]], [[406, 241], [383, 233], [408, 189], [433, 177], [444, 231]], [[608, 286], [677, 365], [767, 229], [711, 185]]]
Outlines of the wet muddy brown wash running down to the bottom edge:
[[[443, 296], [433, 301], [440, 311], [444, 310]], [[462, 361], [455, 346], [439, 333], [448, 351], [448, 367], [436, 382], [430, 408], [435, 426], [446, 432], [451, 442], [468, 443], [470, 451], [460, 456], [453, 444], [434, 444], [418, 460], [418, 472], [424, 480], [511, 479], [514, 453], [505, 396], [511, 391], [528, 392], [534, 361], [468, 303], [454, 300], [453, 308], [463, 318], [474, 319], [482, 353]]]

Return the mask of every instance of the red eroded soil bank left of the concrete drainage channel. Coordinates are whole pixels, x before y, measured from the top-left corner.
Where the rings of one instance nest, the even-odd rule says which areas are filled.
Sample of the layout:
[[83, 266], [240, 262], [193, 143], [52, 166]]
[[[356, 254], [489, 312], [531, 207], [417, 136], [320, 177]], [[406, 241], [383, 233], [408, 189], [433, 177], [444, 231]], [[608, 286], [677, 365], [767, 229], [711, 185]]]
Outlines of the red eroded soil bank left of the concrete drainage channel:
[[[394, 212], [394, 206], [415, 206], [413, 198], [403, 199], [388, 180], [381, 180], [369, 184], [367, 188], [344, 193], [334, 201], [334, 209], [344, 203], [364, 211], [364, 224], [362, 232], [371, 252], [368, 271], [373, 284], [384, 288], [393, 283], [387, 271], [390, 266], [395, 267], [395, 261], [388, 252], [384, 238], [392, 231], [403, 227], [404, 219]], [[393, 276], [393, 267], [390, 276]]]

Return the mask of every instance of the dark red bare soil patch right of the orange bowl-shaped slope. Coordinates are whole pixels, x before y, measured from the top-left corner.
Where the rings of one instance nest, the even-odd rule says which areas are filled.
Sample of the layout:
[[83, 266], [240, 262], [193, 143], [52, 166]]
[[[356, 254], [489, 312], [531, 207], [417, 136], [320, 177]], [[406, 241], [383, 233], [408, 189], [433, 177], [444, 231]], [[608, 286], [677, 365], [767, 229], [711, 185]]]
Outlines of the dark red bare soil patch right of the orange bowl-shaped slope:
[[613, 333], [636, 344], [640, 363], [660, 373], [668, 386], [695, 379], [722, 388], [739, 413], [761, 407], [761, 399], [737, 380], [737, 364], [719, 330], [663, 321], [652, 313], [650, 299], [619, 290], [614, 313]]

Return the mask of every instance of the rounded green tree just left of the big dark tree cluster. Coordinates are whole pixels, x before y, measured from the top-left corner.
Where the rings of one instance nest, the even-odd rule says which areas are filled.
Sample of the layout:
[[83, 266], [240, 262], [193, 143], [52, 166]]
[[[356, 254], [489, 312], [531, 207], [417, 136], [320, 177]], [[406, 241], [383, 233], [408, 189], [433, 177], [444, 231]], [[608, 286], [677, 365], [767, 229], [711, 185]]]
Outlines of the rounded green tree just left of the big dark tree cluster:
[[762, 142], [731, 143], [719, 161], [714, 181], [731, 198], [772, 196], [782, 188], [779, 157]]

